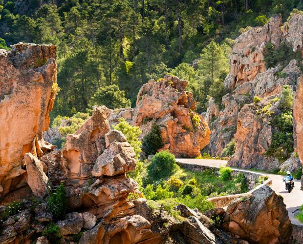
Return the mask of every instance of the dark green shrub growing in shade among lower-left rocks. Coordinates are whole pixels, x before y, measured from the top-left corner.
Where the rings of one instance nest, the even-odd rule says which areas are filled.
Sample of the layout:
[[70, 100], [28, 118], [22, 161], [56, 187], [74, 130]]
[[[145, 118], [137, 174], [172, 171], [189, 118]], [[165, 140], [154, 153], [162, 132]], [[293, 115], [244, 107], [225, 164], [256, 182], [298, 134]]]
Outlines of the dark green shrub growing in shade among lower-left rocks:
[[47, 209], [53, 214], [55, 220], [65, 218], [67, 202], [63, 183], [61, 183], [54, 192], [49, 193], [47, 198]]

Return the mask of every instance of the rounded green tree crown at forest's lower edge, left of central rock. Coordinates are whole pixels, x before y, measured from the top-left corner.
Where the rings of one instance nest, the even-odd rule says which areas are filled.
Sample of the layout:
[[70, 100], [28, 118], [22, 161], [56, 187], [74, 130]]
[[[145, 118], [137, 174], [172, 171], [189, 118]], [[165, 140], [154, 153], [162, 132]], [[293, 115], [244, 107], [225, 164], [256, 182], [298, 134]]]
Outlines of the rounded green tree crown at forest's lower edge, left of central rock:
[[126, 99], [125, 91], [119, 90], [117, 85], [100, 87], [89, 100], [88, 106], [105, 105], [110, 109], [130, 107], [130, 100]]

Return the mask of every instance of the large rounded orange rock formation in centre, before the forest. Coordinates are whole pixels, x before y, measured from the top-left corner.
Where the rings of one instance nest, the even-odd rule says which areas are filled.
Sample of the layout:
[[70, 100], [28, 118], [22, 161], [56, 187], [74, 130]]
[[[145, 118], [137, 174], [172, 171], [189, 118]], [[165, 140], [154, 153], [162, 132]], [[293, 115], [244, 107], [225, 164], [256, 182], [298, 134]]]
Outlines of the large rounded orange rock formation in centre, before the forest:
[[148, 81], [138, 93], [133, 116], [133, 124], [140, 126], [142, 137], [149, 132], [152, 123], [159, 124], [165, 143], [163, 149], [177, 157], [199, 156], [210, 136], [208, 124], [202, 116], [192, 112], [195, 100], [185, 91], [187, 84], [169, 75], [158, 82]]

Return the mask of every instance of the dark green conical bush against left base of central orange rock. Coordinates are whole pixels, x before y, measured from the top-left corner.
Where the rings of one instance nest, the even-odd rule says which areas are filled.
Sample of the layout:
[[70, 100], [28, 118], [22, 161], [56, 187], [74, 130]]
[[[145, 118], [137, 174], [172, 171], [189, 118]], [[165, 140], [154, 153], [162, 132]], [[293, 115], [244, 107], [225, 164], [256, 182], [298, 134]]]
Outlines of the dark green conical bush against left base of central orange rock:
[[145, 152], [145, 155], [154, 155], [158, 149], [164, 146], [163, 139], [161, 136], [160, 126], [154, 123], [151, 126], [150, 132], [144, 136], [142, 140], [142, 149]]

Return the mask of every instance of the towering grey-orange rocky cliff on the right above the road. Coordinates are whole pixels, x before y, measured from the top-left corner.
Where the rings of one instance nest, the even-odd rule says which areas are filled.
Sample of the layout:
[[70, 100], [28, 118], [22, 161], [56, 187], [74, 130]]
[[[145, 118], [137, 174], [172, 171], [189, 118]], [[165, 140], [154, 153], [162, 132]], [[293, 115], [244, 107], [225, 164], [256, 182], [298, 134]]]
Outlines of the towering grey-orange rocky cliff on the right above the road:
[[[224, 81], [224, 86], [231, 89], [232, 93], [222, 98], [223, 108], [220, 111], [217, 111], [218, 106], [210, 100], [205, 115], [212, 131], [209, 144], [212, 156], [221, 156], [226, 145], [235, 138], [236, 151], [229, 165], [243, 168], [257, 167], [262, 170], [274, 170], [281, 166], [281, 159], [279, 162], [277, 158], [265, 154], [275, 132], [269, 117], [281, 113], [277, 101], [283, 85], [288, 85], [293, 93], [297, 89], [300, 90], [302, 61], [296, 57], [302, 52], [302, 23], [302, 15], [292, 16], [283, 25], [281, 16], [275, 15], [263, 27], [251, 28], [235, 40], [233, 53], [230, 55], [231, 72]], [[286, 65], [278, 64], [266, 69], [264, 53], [269, 42], [275, 49], [279, 48], [281, 43], [286, 43], [285, 45], [290, 45], [297, 54], [294, 54], [293, 60]], [[255, 96], [262, 101], [253, 103]], [[277, 96], [276, 102], [272, 102], [275, 96]], [[296, 99], [299, 100], [298, 93]], [[267, 114], [265, 110], [268, 111]], [[299, 131], [300, 123], [296, 122], [296, 117], [300, 120], [298, 118], [300, 112], [296, 110], [298, 106], [294, 107], [294, 118], [295, 126]], [[300, 139], [296, 139], [298, 136], [296, 131], [294, 132], [295, 150], [297, 150], [296, 140], [300, 141]], [[298, 169], [299, 166], [293, 168]], [[283, 170], [286, 169], [283, 167]]]

